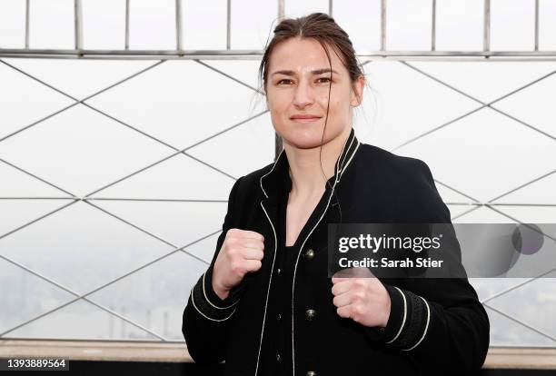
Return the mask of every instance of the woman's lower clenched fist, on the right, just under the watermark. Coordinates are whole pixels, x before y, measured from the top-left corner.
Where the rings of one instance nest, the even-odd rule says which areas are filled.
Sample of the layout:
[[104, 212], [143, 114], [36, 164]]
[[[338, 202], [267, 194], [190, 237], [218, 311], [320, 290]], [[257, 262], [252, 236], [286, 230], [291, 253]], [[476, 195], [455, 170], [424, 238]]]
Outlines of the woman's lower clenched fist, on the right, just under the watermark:
[[[345, 272], [348, 272], [346, 274]], [[337, 274], [349, 277], [337, 277]], [[386, 288], [368, 269], [352, 268], [334, 274], [333, 304], [340, 317], [351, 318], [365, 326], [384, 328], [392, 302]]]

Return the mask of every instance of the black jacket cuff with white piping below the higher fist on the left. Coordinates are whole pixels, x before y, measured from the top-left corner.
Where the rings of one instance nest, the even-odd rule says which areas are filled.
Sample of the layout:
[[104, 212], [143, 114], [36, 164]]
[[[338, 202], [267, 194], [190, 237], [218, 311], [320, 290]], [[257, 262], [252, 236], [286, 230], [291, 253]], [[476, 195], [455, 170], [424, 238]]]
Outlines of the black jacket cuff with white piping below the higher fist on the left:
[[193, 305], [197, 312], [208, 320], [223, 322], [232, 317], [236, 304], [240, 301], [243, 284], [235, 286], [225, 299], [221, 299], [213, 290], [212, 265], [201, 275], [191, 292]]

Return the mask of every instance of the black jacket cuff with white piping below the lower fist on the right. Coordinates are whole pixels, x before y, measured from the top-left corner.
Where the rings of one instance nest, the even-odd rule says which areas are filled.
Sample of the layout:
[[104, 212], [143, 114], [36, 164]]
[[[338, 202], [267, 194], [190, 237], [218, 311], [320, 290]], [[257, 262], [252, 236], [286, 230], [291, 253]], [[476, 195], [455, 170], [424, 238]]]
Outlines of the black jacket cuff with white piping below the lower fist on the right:
[[384, 284], [390, 295], [390, 317], [384, 328], [373, 327], [375, 341], [402, 351], [411, 351], [426, 337], [431, 321], [429, 303], [413, 292]]

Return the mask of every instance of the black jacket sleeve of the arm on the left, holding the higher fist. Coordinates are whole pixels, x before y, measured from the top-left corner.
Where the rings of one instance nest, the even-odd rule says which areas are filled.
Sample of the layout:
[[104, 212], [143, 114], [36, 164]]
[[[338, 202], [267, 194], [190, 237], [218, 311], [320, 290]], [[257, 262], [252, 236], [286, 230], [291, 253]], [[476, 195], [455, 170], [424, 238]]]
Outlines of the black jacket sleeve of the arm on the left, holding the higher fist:
[[228, 198], [228, 209], [224, 217], [222, 233], [216, 241], [213, 260], [207, 270], [195, 283], [189, 294], [184, 309], [182, 333], [187, 344], [187, 350], [197, 363], [218, 363], [225, 357], [225, 345], [233, 312], [243, 292], [243, 284], [233, 287], [225, 299], [221, 299], [213, 291], [212, 273], [214, 262], [220, 252], [225, 235], [234, 227], [233, 213], [235, 197], [242, 178], [232, 187]]

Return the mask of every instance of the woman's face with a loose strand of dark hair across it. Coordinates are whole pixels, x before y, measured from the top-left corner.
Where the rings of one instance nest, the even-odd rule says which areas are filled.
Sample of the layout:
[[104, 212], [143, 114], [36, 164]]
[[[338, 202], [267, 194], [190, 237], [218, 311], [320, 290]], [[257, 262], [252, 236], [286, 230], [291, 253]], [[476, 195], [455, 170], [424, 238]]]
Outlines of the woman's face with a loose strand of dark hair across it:
[[[329, 51], [333, 74], [323, 143], [351, 129], [351, 107], [360, 104], [364, 84], [361, 76], [355, 84], [358, 99], [347, 69], [333, 49]], [[320, 146], [330, 84], [323, 46], [313, 38], [290, 38], [274, 47], [267, 72], [266, 101], [276, 133], [297, 148]]]

